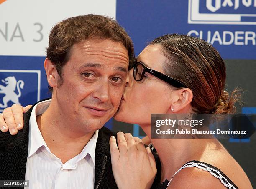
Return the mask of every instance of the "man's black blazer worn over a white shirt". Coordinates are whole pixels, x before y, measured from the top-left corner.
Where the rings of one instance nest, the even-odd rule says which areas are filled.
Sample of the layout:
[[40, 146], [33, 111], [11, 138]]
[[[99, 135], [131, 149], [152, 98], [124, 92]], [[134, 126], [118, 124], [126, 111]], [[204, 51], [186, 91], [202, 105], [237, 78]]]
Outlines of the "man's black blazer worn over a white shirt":
[[[18, 134], [12, 136], [9, 132], [3, 133], [0, 131], [0, 180], [25, 180], [29, 119], [36, 104], [23, 115], [24, 128]], [[111, 167], [109, 139], [112, 135], [116, 137], [116, 133], [106, 127], [99, 130], [95, 150], [95, 189], [118, 189]], [[153, 184], [156, 185], [160, 182], [161, 164], [159, 157], [156, 154], [154, 156], [158, 168], [158, 174]], [[5, 187], [5, 189], [7, 188]], [[23, 187], [15, 187], [15, 189], [19, 188]]]

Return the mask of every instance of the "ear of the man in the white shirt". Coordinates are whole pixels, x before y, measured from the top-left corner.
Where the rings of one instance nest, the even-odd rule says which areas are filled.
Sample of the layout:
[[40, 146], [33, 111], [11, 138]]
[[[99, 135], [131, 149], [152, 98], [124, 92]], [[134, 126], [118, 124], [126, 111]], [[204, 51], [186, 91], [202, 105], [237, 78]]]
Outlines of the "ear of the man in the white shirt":
[[56, 87], [58, 84], [58, 80], [59, 80], [59, 74], [58, 74], [54, 64], [48, 58], [46, 58], [44, 60], [44, 69], [46, 72], [47, 81], [48, 81], [49, 86]]

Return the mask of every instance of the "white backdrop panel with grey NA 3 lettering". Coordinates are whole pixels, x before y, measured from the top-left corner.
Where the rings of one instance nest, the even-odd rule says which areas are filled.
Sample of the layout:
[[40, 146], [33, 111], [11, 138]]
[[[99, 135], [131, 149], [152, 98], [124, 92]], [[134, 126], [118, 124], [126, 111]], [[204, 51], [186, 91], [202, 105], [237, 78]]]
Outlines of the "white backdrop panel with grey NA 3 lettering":
[[57, 22], [90, 13], [115, 19], [116, 0], [6, 0], [0, 3], [0, 55], [45, 56]]

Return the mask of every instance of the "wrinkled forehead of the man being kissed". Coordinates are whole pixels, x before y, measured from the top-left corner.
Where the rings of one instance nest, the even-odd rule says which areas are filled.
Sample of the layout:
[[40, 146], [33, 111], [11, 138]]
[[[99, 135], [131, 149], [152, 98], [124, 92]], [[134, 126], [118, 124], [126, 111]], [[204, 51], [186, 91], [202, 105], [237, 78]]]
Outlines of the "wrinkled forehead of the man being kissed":
[[[109, 47], [111, 45], [111, 47]], [[73, 45], [69, 52], [69, 67], [82, 70], [94, 67], [100, 70], [116, 70], [127, 72], [129, 57], [126, 48], [112, 40], [87, 40]]]

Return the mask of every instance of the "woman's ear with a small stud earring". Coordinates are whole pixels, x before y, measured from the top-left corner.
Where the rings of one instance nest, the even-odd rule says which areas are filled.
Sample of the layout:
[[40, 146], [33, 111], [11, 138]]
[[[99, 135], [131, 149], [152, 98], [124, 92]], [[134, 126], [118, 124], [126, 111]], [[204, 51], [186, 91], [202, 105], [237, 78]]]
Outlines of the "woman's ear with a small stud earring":
[[[171, 111], [174, 113], [184, 110], [187, 112], [190, 109], [190, 103], [193, 99], [192, 90], [189, 88], [182, 88], [174, 90], [172, 94]], [[183, 112], [183, 111], [182, 111]]]

